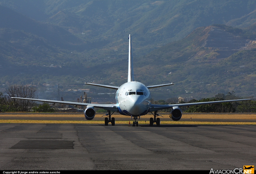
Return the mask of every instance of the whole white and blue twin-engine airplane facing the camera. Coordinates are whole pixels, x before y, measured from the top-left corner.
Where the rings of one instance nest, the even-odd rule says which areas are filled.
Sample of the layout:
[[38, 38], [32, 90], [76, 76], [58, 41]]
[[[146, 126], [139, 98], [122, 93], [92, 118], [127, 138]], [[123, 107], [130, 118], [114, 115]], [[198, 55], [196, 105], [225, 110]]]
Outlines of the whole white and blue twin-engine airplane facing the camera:
[[[133, 57], [132, 57], [132, 40], [131, 35], [128, 37], [129, 39], [129, 60], [128, 60], [128, 80], [127, 83], [124, 83], [121, 86], [110, 86], [110, 85], [102, 85], [102, 84], [94, 84], [87, 83], [88, 85], [101, 86], [104, 88], [115, 89], [116, 91], [116, 104], [91, 104], [91, 103], [78, 103], [78, 102], [65, 102], [65, 101], [55, 101], [55, 100], [42, 100], [35, 98], [21, 98], [21, 97], [11, 97], [15, 99], [22, 100], [33, 100], [39, 102], [49, 102], [49, 103], [59, 103], [59, 104], [70, 104], [76, 106], [87, 106], [84, 110], [84, 116], [87, 120], [92, 120], [95, 116], [95, 109], [102, 108], [108, 110], [108, 114], [106, 114], [105, 125], [107, 126], [109, 122], [111, 125], [115, 125], [115, 118], [111, 115], [114, 112], [118, 112], [125, 116], [133, 117], [135, 121], [133, 121], [133, 126], [138, 126], [138, 121], [136, 121], [141, 116], [147, 114], [148, 112], [154, 112], [154, 118], [150, 118], [150, 126], [153, 126], [153, 123], [156, 123], [157, 126], [160, 125], [160, 118], [156, 118], [159, 116], [157, 114], [158, 110], [172, 108], [170, 113], [170, 118], [174, 121], [180, 120], [182, 117], [182, 110], [179, 108], [181, 106], [195, 106], [195, 105], [206, 105], [206, 104], [216, 104], [216, 103], [227, 103], [227, 102], [240, 102], [247, 101], [252, 99], [241, 99], [241, 100], [226, 100], [226, 101], [213, 101], [213, 102], [198, 102], [198, 103], [183, 103], [183, 104], [170, 104], [170, 105], [154, 105], [151, 104], [151, 94], [149, 89], [158, 88], [162, 86], [173, 85], [174, 83], [161, 84], [161, 85], [153, 85], [146, 86], [141, 82], [136, 82], [133, 76]], [[111, 111], [113, 112], [111, 114]]]

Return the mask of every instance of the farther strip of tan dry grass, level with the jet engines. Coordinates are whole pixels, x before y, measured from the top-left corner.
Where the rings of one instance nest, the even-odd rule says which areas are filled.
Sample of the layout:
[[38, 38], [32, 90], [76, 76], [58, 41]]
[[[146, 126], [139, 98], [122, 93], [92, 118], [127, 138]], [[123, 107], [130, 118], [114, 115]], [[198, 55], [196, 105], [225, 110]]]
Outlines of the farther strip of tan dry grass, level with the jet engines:
[[[104, 114], [96, 114], [95, 117], [102, 117]], [[164, 118], [170, 118], [169, 114], [162, 114]], [[83, 113], [81, 114], [0, 114], [0, 117], [84, 117]], [[106, 116], [104, 116], [106, 117]], [[124, 116], [121, 114], [113, 114], [112, 117], [115, 118], [129, 118], [129, 116]], [[141, 116], [141, 118], [151, 118], [153, 115], [151, 113]], [[255, 114], [183, 114], [182, 118], [200, 118], [200, 119], [256, 119]], [[159, 116], [159, 118], [162, 118]]]

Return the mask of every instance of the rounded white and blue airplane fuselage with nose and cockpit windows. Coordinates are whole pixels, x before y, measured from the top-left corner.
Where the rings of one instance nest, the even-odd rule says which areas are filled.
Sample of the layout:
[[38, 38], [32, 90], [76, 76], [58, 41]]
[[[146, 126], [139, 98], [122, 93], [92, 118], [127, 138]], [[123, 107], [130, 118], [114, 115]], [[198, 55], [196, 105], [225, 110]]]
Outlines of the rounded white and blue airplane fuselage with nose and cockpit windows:
[[116, 91], [119, 113], [127, 116], [141, 116], [148, 113], [151, 94], [148, 88], [136, 81], [127, 82]]

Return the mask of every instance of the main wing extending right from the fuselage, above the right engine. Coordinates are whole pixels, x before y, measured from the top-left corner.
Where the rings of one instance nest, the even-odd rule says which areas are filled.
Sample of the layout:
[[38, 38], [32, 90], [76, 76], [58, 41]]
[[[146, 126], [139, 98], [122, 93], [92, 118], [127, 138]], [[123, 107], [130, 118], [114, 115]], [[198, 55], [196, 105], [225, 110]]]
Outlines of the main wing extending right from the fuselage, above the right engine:
[[217, 103], [228, 103], [228, 102], [242, 102], [248, 101], [252, 99], [239, 99], [239, 100], [223, 100], [223, 101], [212, 101], [212, 102], [197, 102], [197, 103], [180, 103], [180, 104], [171, 104], [171, 105], [153, 105], [151, 104], [149, 111], [157, 111], [162, 109], [169, 109], [174, 106], [196, 106], [196, 105], [210, 105], [210, 104], [217, 104]]

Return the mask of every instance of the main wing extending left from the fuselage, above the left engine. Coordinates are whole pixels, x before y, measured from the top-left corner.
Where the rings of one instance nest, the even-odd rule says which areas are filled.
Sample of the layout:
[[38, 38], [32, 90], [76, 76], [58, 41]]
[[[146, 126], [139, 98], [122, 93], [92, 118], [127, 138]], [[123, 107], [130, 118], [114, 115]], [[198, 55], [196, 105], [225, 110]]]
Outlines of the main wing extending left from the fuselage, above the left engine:
[[57, 101], [57, 100], [42, 100], [42, 99], [36, 99], [36, 98], [22, 98], [22, 97], [11, 97], [11, 98], [21, 99], [21, 100], [32, 100], [32, 101], [38, 101], [38, 102], [59, 103], [59, 104], [75, 105], [75, 106], [90, 105], [90, 106], [102, 108], [102, 109], [105, 109], [105, 110], [118, 111], [118, 108], [117, 108], [116, 104], [92, 104], [92, 103]]

